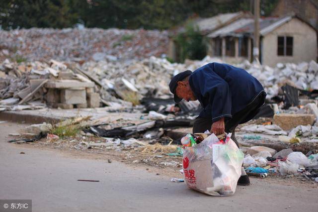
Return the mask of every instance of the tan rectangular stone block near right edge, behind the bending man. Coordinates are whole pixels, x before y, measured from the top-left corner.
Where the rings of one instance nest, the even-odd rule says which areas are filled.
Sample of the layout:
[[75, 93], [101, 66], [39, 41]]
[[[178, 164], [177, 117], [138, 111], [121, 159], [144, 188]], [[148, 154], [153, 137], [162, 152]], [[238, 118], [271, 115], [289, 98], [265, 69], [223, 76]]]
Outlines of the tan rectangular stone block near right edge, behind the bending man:
[[298, 125], [313, 125], [315, 115], [313, 114], [275, 114], [273, 123], [280, 126], [284, 130], [291, 130]]

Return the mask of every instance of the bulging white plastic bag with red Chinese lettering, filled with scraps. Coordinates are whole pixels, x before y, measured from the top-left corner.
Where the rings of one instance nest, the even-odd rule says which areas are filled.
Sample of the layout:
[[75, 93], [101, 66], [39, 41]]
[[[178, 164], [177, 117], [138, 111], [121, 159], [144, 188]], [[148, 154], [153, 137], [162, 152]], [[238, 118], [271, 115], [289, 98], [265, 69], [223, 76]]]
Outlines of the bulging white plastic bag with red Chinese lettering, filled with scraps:
[[187, 186], [211, 196], [230, 196], [241, 175], [243, 153], [229, 133], [225, 140], [211, 134], [201, 143], [186, 147], [183, 172]]

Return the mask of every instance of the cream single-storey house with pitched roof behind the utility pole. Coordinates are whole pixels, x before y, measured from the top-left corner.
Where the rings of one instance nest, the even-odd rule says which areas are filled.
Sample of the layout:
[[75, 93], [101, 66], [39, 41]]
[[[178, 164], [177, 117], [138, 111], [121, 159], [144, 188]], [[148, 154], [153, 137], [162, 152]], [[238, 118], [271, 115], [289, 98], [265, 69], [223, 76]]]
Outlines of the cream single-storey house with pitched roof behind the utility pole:
[[[260, 18], [262, 64], [310, 62], [317, 59], [317, 31], [297, 16]], [[228, 63], [252, 61], [253, 18], [241, 18], [207, 35], [212, 57]]]

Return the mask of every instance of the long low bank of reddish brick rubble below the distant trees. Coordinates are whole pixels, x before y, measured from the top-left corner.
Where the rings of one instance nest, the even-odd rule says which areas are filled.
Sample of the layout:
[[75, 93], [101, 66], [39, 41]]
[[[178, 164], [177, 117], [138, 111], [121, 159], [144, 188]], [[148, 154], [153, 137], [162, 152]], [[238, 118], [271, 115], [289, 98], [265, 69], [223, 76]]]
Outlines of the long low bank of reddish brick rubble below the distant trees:
[[160, 57], [167, 52], [168, 33], [158, 30], [97, 28], [0, 30], [0, 61], [7, 57], [36, 61], [84, 62], [104, 59]]

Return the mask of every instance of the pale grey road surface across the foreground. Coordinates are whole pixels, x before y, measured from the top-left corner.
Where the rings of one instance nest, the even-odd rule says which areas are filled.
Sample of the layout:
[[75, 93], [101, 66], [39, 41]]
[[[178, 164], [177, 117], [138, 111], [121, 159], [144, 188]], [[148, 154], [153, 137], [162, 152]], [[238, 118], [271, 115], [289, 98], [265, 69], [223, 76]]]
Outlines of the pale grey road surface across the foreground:
[[318, 211], [318, 189], [308, 185], [252, 179], [251, 186], [239, 186], [232, 197], [210, 197], [156, 175], [160, 170], [7, 143], [8, 134], [22, 127], [0, 123], [0, 199], [32, 199], [34, 212]]

